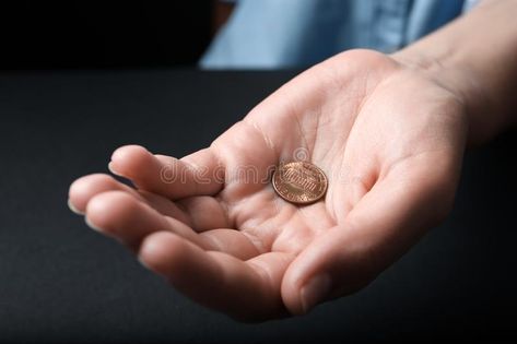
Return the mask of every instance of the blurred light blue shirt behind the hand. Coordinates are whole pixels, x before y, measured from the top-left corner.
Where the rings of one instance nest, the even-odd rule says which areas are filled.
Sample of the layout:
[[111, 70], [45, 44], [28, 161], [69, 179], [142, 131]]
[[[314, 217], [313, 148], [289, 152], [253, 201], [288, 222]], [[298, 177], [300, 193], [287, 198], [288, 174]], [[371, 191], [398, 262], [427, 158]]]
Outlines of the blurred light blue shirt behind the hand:
[[475, 0], [239, 0], [204, 69], [306, 67], [351, 48], [396, 51]]

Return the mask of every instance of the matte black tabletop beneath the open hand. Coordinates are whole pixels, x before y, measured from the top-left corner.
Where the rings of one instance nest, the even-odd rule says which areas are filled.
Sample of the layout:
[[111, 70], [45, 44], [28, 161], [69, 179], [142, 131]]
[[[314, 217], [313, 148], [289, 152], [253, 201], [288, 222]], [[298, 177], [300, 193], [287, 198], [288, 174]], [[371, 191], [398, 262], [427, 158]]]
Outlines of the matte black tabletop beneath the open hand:
[[115, 147], [203, 147], [292, 75], [0, 75], [0, 342], [517, 339], [515, 132], [467, 155], [454, 212], [401, 261], [295, 319], [242, 324], [207, 310], [68, 210], [69, 183], [106, 171]]

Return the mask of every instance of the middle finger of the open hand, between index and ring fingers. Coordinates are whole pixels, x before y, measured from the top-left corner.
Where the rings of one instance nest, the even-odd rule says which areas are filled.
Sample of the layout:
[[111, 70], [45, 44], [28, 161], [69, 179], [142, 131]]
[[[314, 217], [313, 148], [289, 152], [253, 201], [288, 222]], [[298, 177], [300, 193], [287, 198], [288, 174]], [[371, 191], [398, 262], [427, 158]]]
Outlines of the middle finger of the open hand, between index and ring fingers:
[[107, 191], [93, 197], [86, 206], [86, 223], [94, 229], [138, 249], [141, 240], [157, 230], [175, 233], [195, 245], [212, 248], [208, 240], [184, 223], [166, 217], [122, 191]]

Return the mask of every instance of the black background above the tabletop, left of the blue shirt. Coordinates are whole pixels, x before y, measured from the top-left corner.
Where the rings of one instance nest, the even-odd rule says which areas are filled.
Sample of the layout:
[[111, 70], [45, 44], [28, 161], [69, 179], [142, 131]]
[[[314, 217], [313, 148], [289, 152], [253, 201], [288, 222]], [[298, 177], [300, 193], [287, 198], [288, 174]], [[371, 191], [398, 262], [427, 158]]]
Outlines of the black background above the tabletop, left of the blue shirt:
[[195, 64], [212, 1], [0, 1], [0, 69]]

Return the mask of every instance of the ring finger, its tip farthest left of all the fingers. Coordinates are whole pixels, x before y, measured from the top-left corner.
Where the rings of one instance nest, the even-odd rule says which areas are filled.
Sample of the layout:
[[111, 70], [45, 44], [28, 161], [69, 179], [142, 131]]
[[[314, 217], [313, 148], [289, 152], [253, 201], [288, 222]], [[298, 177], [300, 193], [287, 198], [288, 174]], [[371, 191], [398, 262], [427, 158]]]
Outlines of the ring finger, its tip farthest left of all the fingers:
[[187, 225], [191, 225], [189, 216], [169, 200], [148, 192], [138, 192], [133, 188], [114, 179], [111, 176], [104, 174], [84, 176], [72, 182], [69, 190], [70, 209], [75, 213], [84, 214], [90, 200], [96, 194], [106, 191], [126, 192], [141, 202], [148, 203], [162, 214], [181, 221]]

